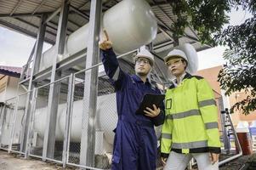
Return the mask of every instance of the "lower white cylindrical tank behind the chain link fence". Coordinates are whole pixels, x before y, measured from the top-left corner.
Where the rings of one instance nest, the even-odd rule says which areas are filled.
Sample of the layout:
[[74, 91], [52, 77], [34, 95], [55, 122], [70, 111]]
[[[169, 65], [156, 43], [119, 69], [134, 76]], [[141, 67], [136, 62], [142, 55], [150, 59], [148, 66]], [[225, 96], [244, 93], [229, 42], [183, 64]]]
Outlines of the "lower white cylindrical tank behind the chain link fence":
[[[104, 132], [107, 143], [114, 140], [113, 129], [117, 126], [117, 103], [116, 94], [106, 94], [98, 97], [96, 129]], [[55, 136], [57, 141], [62, 141], [65, 134], [66, 104], [58, 107]], [[46, 127], [47, 108], [37, 109], [35, 113], [34, 131], [43, 139]], [[86, 117], [87, 118], [87, 117]], [[82, 129], [82, 100], [73, 103], [71, 118], [71, 142], [81, 141]]]

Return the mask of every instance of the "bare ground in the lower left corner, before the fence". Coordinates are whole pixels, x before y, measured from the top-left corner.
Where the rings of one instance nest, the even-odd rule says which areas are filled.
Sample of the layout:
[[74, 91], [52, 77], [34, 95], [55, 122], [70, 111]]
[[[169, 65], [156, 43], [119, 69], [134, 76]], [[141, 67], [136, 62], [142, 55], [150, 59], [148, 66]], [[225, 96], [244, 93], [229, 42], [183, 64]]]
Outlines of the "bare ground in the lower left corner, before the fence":
[[1, 170], [58, 170], [76, 169], [63, 168], [55, 163], [44, 162], [36, 159], [24, 159], [14, 154], [8, 154], [5, 150], [0, 150], [0, 169]]

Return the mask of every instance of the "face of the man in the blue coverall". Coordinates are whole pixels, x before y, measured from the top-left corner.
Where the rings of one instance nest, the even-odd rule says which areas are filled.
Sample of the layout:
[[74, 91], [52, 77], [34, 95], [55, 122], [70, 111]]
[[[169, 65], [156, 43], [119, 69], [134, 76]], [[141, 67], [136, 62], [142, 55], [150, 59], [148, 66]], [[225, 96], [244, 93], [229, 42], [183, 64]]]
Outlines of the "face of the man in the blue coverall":
[[139, 57], [135, 60], [135, 72], [139, 76], [146, 76], [151, 71], [151, 62], [149, 59]]

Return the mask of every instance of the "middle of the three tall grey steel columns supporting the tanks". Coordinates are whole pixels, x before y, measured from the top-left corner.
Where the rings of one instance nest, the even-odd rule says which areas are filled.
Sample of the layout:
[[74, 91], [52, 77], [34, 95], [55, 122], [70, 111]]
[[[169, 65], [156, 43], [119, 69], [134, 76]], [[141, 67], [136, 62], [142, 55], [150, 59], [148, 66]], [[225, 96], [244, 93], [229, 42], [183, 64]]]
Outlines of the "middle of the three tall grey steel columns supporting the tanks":
[[[69, 2], [67, 0], [63, 0], [61, 9], [60, 9], [58, 32], [57, 32], [56, 43], [55, 43], [55, 46], [57, 48], [57, 54], [54, 56], [54, 60], [53, 60], [51, 82], [55, 81], [56, 76], [60, 76], [60, 72], [55, 73], [56, 64], [57, 64], [58, 56], [64, 54], [68, 13], [69, 13]], [[60, 82], [58, 82], [57, 84], [55, 83], [50, 84], [46, 128], [44, 131], [44, 139], [43, 139], [43, 161], [46, 160], [46, 157], [52, 158], [52, 159], [54, 158], [55, 129], [56, 129], [56, 119], [57, 119], [57, 113], [58, 113], [59, 94], [60, 94]]]

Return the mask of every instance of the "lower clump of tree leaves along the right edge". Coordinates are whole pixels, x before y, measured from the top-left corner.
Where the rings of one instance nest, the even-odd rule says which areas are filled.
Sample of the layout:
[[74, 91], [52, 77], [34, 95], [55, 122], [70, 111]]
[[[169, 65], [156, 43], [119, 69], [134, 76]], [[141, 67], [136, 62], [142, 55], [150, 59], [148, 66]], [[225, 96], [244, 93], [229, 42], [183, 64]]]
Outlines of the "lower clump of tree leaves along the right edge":
[[240, 26], [229, 26], [216, 36], [220, 44], [227, 45], [224, 58], [227, 64], [219, 72], [221, 88], [226, 94], [245, 90], [247, 98], [231, 107], [249, 114], [256, 110], [256, 15]]

